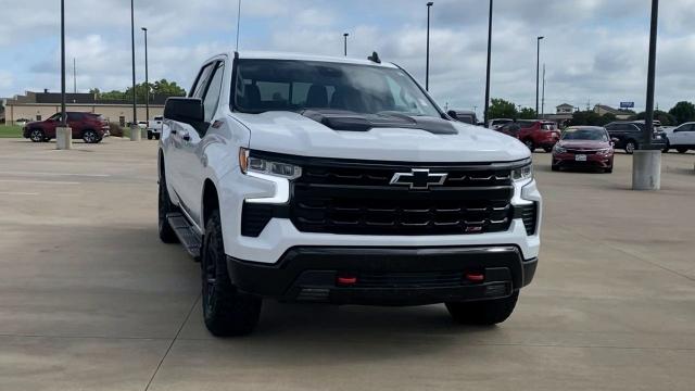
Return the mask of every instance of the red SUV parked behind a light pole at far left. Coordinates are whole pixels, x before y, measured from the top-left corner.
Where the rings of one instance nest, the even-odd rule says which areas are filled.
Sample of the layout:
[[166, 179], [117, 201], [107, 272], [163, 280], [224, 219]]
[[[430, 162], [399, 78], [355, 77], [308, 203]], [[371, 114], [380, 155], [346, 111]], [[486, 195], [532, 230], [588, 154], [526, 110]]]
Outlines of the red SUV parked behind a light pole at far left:
[[[61, 125], [61, 113], [46, 121], [24, 125], [24, 138], [34, 142], [49, 141], [55, 138], [55, 128]], [[67, 112], [67, 126], [73, 129], [73, 139], [83, 139], [87, 143], [100, 142], [109, 136], [109, 122], [93, 113]]]

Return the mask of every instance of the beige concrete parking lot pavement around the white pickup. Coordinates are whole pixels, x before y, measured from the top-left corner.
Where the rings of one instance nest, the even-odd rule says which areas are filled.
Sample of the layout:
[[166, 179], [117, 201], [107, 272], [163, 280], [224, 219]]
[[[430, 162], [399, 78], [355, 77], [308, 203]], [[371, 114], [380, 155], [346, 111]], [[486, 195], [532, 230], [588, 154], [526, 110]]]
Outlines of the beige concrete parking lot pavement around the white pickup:
[[553, 173], [534, 282], [493, 328], [443, 305], [268, 303], [216, 339], [200, 273], [156, 230], [156, 143], [0, 140], [0, 390], [693, 390], [694, 154], [662, 190]]

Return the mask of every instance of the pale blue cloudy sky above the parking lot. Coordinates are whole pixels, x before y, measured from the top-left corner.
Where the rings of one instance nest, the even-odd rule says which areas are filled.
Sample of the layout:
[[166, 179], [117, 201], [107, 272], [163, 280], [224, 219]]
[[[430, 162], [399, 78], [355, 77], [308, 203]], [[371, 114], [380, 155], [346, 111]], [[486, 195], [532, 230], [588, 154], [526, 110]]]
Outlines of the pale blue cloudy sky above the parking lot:
[[[65, 0], [68, 77], [77, 88], [124, 90], [131, 84], [130, 2]], [[208, 56], [233, 50], [237, 0], [135, 0], [137, 79], [188, 89]], [[343, 54], [377, 51], [425, 84], [425, 0], [243, 0], [240, 50]], [[492, 98], [535, 106], [536, 37], [544, 36], [545, 112], [569, 103], [635, 102], [643, 110], [650, 0], [495, 0]], [[695, 101], [695, 0], [661, 1], [656, 101]], [[482, 114], [488, 41], [485, 0], [435, 0], [431, 9], [430, 92], [450, 109]], [[0, 97], [60, 91], [60, 2], [0, 0]]]

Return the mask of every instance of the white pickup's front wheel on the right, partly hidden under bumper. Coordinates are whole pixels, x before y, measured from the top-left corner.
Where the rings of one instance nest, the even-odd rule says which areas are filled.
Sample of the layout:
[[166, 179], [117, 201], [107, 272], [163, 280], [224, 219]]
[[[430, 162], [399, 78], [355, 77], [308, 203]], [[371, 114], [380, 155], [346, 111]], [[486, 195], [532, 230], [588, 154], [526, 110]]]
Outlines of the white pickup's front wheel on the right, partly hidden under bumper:
[[511, 315], [518, 299], [519, 291], [516, 291], [504, 299], [446, 303], [446, 310], [457, 324], [492, 326], [505, 321]]

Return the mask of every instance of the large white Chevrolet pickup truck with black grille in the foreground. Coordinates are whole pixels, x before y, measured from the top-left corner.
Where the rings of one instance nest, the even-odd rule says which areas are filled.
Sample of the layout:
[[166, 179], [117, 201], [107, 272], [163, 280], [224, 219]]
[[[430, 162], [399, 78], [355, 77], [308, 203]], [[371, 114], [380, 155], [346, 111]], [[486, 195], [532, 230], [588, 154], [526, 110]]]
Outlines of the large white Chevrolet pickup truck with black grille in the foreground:
[[455, 321], [492, 325], [531, 282], [529, 149], [451, 121], [369, 59], [219, 54], [167, 100], [160, 238], [201, 261], [213, 335], [252, 331], [264, 299], [446, 303]]

